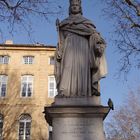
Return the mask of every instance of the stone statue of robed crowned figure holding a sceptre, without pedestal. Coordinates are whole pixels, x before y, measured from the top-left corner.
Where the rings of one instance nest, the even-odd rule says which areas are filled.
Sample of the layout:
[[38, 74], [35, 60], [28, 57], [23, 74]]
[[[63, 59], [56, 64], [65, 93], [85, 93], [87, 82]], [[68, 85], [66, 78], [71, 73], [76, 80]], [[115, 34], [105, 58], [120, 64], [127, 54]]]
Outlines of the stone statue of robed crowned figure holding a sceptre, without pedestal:
[[70, 0], [69, 17], [58, 23], [55, 78], [58, 97], [100, 96], [98, 83], [107, 73], [104, 39], [82, 16], [81, 0]]

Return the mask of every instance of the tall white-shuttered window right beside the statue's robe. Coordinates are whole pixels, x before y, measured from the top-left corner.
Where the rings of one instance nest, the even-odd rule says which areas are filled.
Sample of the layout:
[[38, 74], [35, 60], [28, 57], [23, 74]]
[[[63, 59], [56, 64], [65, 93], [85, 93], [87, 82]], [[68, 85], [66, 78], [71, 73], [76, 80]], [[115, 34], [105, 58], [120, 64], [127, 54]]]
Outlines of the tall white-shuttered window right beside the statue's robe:
[[56, 82], [54, 76], [48, 77], [48, 96], [53, 98], [57, 95]]

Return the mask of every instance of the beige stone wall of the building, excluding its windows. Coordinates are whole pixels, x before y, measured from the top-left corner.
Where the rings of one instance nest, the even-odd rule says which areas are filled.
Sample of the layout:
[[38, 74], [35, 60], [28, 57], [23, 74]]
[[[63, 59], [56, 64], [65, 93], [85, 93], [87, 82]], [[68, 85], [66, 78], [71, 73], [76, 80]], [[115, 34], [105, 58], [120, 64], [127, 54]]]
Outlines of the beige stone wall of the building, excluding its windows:
[[[48, 98], [48, 76], [53, 75], [54, 65], [49, 57], [54, 56], [53, 46], [0, 45], [0, 56], [8, 55], [9, 64], [0, 64], [0, 74], [8, 76], [7, 93], [0, 98], [0, 113], [4, 116], [4, 140], [18, 140], [19, 118], [29, 114], [31, 140], [48, 140], [47, 123], [44, 119], [44, 106], [53, 102]], [[23, 64], [23, 56], [34, 56], [33, 64]], [[33, 94], [21, 97], [21, 76], [33, 75]]]

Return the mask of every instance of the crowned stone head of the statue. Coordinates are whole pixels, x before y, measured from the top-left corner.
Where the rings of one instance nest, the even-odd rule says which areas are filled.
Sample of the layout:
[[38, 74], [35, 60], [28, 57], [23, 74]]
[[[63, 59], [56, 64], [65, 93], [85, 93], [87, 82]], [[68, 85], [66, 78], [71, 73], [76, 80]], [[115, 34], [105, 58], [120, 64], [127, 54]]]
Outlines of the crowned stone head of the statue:
[[81, 0], [70, 0], [69, 15], [82, 14]]

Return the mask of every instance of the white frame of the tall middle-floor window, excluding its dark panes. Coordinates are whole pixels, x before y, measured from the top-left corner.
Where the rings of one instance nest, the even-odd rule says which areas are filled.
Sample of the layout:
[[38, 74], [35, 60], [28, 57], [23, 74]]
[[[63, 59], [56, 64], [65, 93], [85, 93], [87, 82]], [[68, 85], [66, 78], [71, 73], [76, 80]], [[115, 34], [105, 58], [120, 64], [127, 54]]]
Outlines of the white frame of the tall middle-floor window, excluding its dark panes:
[[[23, 78], [27, 78], [26, 82], [23, 81]], [[30, 82], [29, 78], [32, 78], [32, 81]], [[26, 92], [25, 92], [25, 96], [23, 96], [23, 85], [24, 83], [26, 83], [27, 87], [26, 87]], [[31, 83], [31, 96], [29, 96], [28, 90], [29, 90], [29, 84]], [[33, 89], [34, 89], [34, 75], [22, 75], [21, 76], [21, 90], [20, 90], [20, 97], [21, 98], [32, 98], [33, 96]]]

